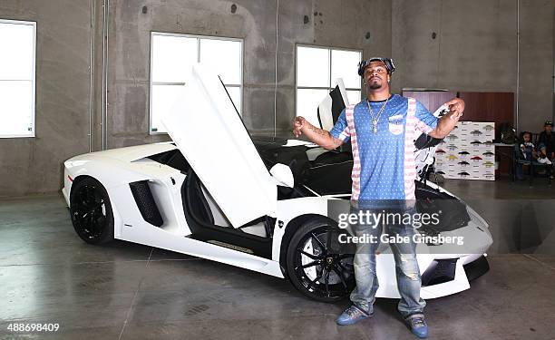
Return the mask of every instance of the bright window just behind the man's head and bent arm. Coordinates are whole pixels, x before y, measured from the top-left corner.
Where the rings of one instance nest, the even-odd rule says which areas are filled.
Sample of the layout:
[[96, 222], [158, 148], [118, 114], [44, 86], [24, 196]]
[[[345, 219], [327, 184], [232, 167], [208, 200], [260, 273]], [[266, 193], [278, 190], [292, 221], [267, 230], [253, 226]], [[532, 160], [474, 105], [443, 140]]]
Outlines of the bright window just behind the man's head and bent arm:
[[362, 51], [297, 45], [297, 116], [319, 126], [317, 107], [343, 78], [349, 103], [360, 102], [361, 78], [356, 73]]

